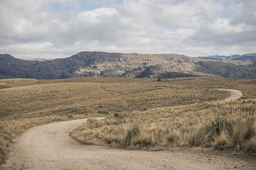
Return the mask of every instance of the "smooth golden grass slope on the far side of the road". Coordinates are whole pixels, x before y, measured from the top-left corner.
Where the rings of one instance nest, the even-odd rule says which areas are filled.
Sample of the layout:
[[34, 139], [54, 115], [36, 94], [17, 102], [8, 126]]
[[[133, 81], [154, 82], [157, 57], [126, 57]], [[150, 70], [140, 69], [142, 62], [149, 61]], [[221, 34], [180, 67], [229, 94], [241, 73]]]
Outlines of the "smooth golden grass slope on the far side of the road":
[[[102, 78], [104, 80], [104, 78]], [[118, 80], [118, 78], [116, 78]], [[176, 106], [201, 101], [211, 101], [227, 96], [227, 92], [218, 92], [202, 86], [172, 85], [156, 80], [124, 79], [98, 83], [99, 78], [72, 79], [75, 82], [56, 83], [57, 80], [6, 80], [18, 87], [0, 90], [0, 117], [40, 117], [45, 115], [86, 114], [100, 111], [118, 112], [124, 110], [143, 110], [162, 106]], [[81, 82], [81, 80], [85, 80]], [[114, 79], [115, 80], [115, 79]], [[127, 82], [127, 80], [130, 80]], [[3, 83], [3, 80], [1, 80]], [[13, 83], [15, 81], [15, 83]], [[17, 83], [16, 81], [21, 81]], [[36, 85], [31, 85], [35, 81]], [[41, 82], [38, 85], [38, 81]], [[67, 80], [63, 80], [64, 82]]]

